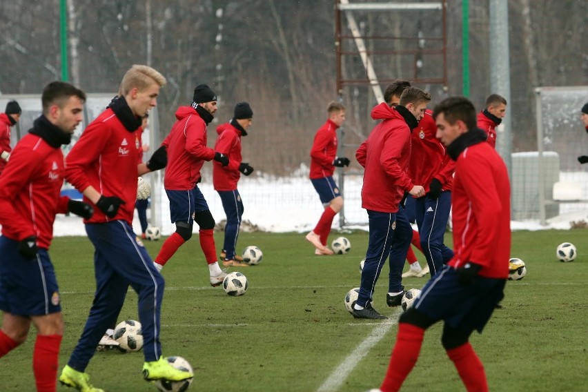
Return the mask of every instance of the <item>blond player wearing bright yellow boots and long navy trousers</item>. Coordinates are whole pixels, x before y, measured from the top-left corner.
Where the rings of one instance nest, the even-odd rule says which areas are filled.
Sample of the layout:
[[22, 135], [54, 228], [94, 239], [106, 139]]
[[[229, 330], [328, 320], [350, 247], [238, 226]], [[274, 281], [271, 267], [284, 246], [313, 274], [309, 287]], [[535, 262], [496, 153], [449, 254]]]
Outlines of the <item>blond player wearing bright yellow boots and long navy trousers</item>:
[[145, 380], [185, 380], [193, 376], [175, 369], [161, 355], [159, 342], [164, 278], [133, 233], [137, 175], [166, 165], [163, 148], [141, 162], [141, 118], [157, 104], [166, 79], [148, 66], [132, 66], [124, 75], [120, 95], [92, 121], [66, 157], [66, 179], [95, 207], [84, 222], [94, 245], [96, 291], [90, 314], [61, 384], [79, 391], [95, 389], [85, 373], [104, 331], [115, 324], [130, 285], [137, 292], [143, 331]]

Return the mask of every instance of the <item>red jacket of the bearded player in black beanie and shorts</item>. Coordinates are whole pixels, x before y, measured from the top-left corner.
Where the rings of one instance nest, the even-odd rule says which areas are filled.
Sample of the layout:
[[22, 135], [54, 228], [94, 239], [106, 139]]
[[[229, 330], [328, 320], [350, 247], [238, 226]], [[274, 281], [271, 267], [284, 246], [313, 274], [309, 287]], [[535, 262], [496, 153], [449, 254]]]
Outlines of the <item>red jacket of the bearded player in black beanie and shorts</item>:
[[161, 146], [168, 152], [164, 187], [168, 190], [190, 190], [200, 179], [204, 161], [215, 157], [215, 150], [206, 146], [206, 122], [192, 106], [180, 106], [177, 121]]

